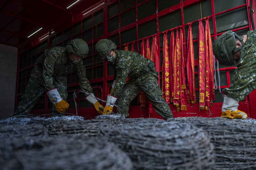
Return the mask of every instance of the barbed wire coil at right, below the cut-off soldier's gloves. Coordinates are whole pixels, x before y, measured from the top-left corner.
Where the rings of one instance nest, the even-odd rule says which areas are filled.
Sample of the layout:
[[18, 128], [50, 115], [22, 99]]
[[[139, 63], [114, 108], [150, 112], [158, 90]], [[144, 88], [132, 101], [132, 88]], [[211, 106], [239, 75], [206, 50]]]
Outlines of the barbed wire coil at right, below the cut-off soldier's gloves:
[[184, 117], [173, 121], [192, 123], [209, 133], [216, 155], [215, 169], [256, 169], [256, 124], [201, 117]]

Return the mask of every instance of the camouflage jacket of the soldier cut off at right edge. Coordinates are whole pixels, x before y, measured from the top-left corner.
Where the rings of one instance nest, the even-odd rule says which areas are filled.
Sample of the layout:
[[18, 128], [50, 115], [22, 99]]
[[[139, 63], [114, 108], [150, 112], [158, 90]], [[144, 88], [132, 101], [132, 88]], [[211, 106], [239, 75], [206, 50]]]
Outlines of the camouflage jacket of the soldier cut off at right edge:
[[248, 31], [230, 86], [222, 91], [240, 101], [254, 89], [256, 89], [256, 30]]

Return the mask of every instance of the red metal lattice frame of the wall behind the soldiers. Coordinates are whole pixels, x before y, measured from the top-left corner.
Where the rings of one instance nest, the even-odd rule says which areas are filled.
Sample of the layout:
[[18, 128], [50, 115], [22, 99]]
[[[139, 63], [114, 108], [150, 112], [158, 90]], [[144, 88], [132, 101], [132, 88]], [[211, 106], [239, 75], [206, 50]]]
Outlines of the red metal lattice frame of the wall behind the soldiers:
[[[46, 2], [45, 0], [42, 0], [42, 1]], [[105, 1], [105, 3], [103, 5], [101, 5], [98, 8], [92, 10], [91, 12], [88, 12], [85, 15], [83, 15], [82, 13], [78, 13], [77, 15], [75, 15], [73, 17], [74, 21], [70, 25], [67, 25], [67, 27], [66, 27], [66, 28], [69, 28], [71, 26], [71, 37], [70, 37], [71, 39], [73, 38], [73, 36], [76, 36], [78, 34], [81, 34], [81, 38], [82, 38], [82, 34], [83, 34], [84, 31], [92, 29], [92, 40], [87, 42], [88, 45], [92, 45], [92, 51], [94, 50], [93, 49], [93, 44], [95, 42], [99, 41], [101, 38], [108, 38], [108, 37], [111, 37], [111, 36], [117, 35], [117, 34], [119, 35], [119, 44], [116, 44], [116, 45], [117, 45], [117, 48], [121, 49], [121, 47], [124, 46], [124, 44], [121, 44], [121, 36], [120, 36], [121, 33], [124, 32], [124, 31], [127, 31], [129, 29], [132, 29], [134, 27], [136, 28], [137, 51], [139, 51], [139, 41], [141, 41], [141, 39], [138, 39], [138, 26], [140, 26], [142, 24], [145, 24], [145, 23], [147, 23], [147, 22], [149, 22], [151, 20], [155, 20], [155, 19], [156, 19], [156, 24], [157, 24], [156, 25], [156, 27], [157, 27], [157, 39], [158, 39], [158, 46], [159, 46], [160, 45], [159, 35], [162, 34], [162, 32], [159, 32], [159, 20], [158, 19], [160, 17], [163, 17], [165, 15], [168, 15], [170, 13], [173, 13], [173, 12], [176, 12], [176, 11], [179, 11], [179, 10], [181, 11], [181, 19], [182, 19], [182, 25], [179, 26], [179, 27], [182, 27], [182, 32], [185, 35], [184, 27], [187, 26], [188, 24], [184, 24], [183, 9], [188, 7], [188, 6], [191, 6], [193, 4], [199, 3], [199, 2], [201, 2], [203, 0], [186, 0], [184, 2], [182, 0], [180, 0], [180, 4], [177, 4], [177, 5], [174, 5], [172, 7], [169, 7], [167, 9], [165, 9], [165, 10], [160, 11], [160, 12], [158, 12], [158, 0], [156, 0], [156, 13], [152, 14], [152, 15], [150, 15], [148, 17], [145, 17], [143, 19], [140, 19], [140, 20], [138, 20], [138, 16], [137, 16], [137, 8], [138, 8], [138, 6], [140, 6], [142, 4], [145, 4], [145, 3], [149, 2], [150, 0], [146, 0], [146, 1], [142, 2], [142, 3], [140, 3], [140, 4], [137, 4], [137, 0], [135, 0], [135, 6], [129, 8], [129, 9], [123, 11], [123, 12], [120, 12], [120, 0], [109, 0], [109, 1], [104, 0], [104, 1]], [[112, 5], [112, 4], [116, 3], [116, 2], [119, 3], [118, 4], [119, 12], [115, 16], [112, 16], [112, 17], [108, 18], [108, 16], [107, 16], [108, 6], [110, 6], [110, 5]], [[218, 35], [222, 34], [222, 33], [217, 34], [215, 16], [218, 16], [220, 14], [223, 14], [223, 13], [226, 13], [226, 12], [229, 12], [229, 11], [236, 10], [238, 8], [242, 8], [244, 6], [247, 7], [247, 13], [248, 13], [249, 12], [249, 10], [248, 10], [249, 0], [246, 0], [246, 4], [237, 6], [235, 8], [232, 8], [232, 9], [229, 9], [229, 10], [226, 10], [226, 11], [223, 11], [223, 12], [215, 13], [215, 10], [214, 10], [214, 0], [211, 0], [212, 15], [210, 17], [212, 17], [212, 19], [213, 19], [214, 35], [212, 35], [212, 37], [214, 37], [214, 39], [216, 39]], [[136, 21], [134, 23], [131, 23], [131, 24], [126, 25], [124, 27], [120, 27], [120, 15], [123, 14], [124, 12], [127, 12], [127, 11], [129, 11], [131, 9], [134, 9], [134, 8], [135, 8], [135, 12], [136, 12]], [[93, 9], [93, 7], [91, 7], [90, 9]], [[88, 10], [90, 10], [90, 9], [88, 9]], [[93, 39], [93, 27], [95, 27], [93, 25], [93, 14], [95, 14], [96, 12], [99, 12], [101, 10], [103, 10], [103, 22], [100, 22], [100, 23], [103, 23], [103, 28], [105, 28], [105, 29], [103, 29], [103, 35], [102, 36]], [[111, 31], [111, 32], [108, 32], [107, 31], [107, 25], [108, 25], [107, 21], [109, 19], [112, 19], [112, 18], [117, 17], [117, 16], [119, 17], [118, 29], [116, 29], [114, 31]], [[83, 19], [86, 19], [88, 17], [92, 17], [92, 27], [90, 27], [90, 28], [88, 28], [88, 29], [83, 31], [83, 28], [82, 28]], [[250, 15], [249, 14], [248, 14], [248, 19], [250, 21]], [[81, 32], [76, 34], [76, 35], [73, 35], [73, 25], [77, 24], [77, 22], [81, 22]], [[192, 23], [196, 23], [196, 22], [198, 22], [198, 20], [193, 21]], [[98, 23], [98, 24], [100, 24], [100, 23]], [[252, 29], [252, 26], [251, 26], [250, 22], [249, 22], [249, 26], [237, 28], [237, 29], [234, 29], [233, 31], [238, 31], [238, 30], [247, 29], [247, 28], [250, 28], [250, 30]], [[171, 28], [171, 29], [173, 29], [173, 28]], [[171, 29], [169, 29], [167, 31], [170, 31]], [[50, 47], [50, 39], [53, 36], [55, 36], [55, 45], [53, 45], [53, 46], [58, 45], [58, 44], [56, 44], [56, 35], [57, 34], [59, 34], [59, 33], [52, 34], [52, 35], [50, 35], [47, 38], [48, 48]], [[62, 46], [63, 46], [64, 42], [66, 40], [70, 39], [70, 38], [64, 40], [64, 30], [62, 30], [62, 36], [63, 36], [63, 38], [62, 38], [63, 41], [61, 43], [62, 43]], [[149, 37], [151, 37], [151, 36], [149, 36]], [[194, 40], [194, 41], [197, 41], [197, 40]], [[186, 62], [186, 39], [185, 39], [185, 36], [183, 36], [183, 42], [184, 42], [183, 43], [184, 59], [185, 59], [185, 62]], [[42, 43], [42, 41], [37, 42], [36, 45], [38, 43]], [[160, 51], [161, 50], [162, 49], [159, 50], [159, 55], [160, 55]], [[22, 52], [20, 52], [19, 54], [21, 54]], [[87, 58], [92, 57], [92, 67], [86, 68], [86, 70], [88, 70], [88, 69], [92, 70], [92, 78], [93, 78], [93, 69], [94, 68], [99, 67], [99, 66], [103, 66], [104, 72], [103, 72], [103, 77], [97, 78], [97, 79], [92, 79], [92, 80], [89, 80], [89, 81], [90, 81], [90, 83], [103, 82], [103, 89], [101, 89], [102, 90], [101, 91], [102, 92], [102, 99], [106, 100], [107, 93], [109, 91], [109, 88], [111, 87], [111, 86], [108, 87], [107, 81], [112, 81], [113, 80], [113, 76], [108, 76], [108, 64], [105, 61], [103, 61], [103, 64], [101, 64], [101, 65], [94, 66], [93, 65], [93, 56], [95, 56], [94, 52], [92, 52], [92, 55], [87, 56]], [[20, 58], [20, 56], [19, 56], [19, 58]], [[186, 63], [185, 63], [185, 65], [186, 65]], [[197, 65], [197, 60], [195, 60], [195, 65]], [[20, 69], [19, 66], [20, 65], [18, 64], [18, 72], [19, 73], [21, 73], [21, 71], [23, 71], [23, 70], [26, 70], [26, 69], [28, 69], [30, 67], [33, 67], [33, 65], [31, 65], [31, 66], [27, 66], [26, 68]], [[228, 67], [228, 68], [220, 69], [220, 71], [226, 71], [226, 75], [227, 75], [227, 86], [221, 86], [221, 88], [229, 87], [229, 85], [230, 85], [229, 70], [234, 70], [235, 68], [236, 67]], [[162, 70], [162, 67], [160, 66], [160, 71], [161, 70]], [[195, 73], [195, 75], [196, 74], [197, 73]], [[70, 76], [72, 76], [72, 73], [71, 73]], [[17, 80], [18, 80], [18, 74], [17, 74]], [[76, 83], [69, 83], [68, 87], [78, 86], [78, 85], [79, 85], [78, 82], [76, 82]], [[18, 91], [18, 83], [17, 83], [17, 86], [16, 86], [16, 90]], [[19, 96], [19, 95], [21, 95], [21, 94], [17, 94], [17, 96]], [[248, 98], [249, 98], [250, 103], [248, 102]], [[256, 111], [256, 109], [254, 109], [254, 107], [253, 107], [256, 104], [256, 102], [254, 102], [255, 101], [254, 98], [256, 98], [256, 91], [253, 91], [251, 94], [249, 94], [248, 98], [246, 97], [244, 102], [240, 102], [239, 109], [247, 112], [249, 117], [256, 118], [256, 114], [252, 114], [251, 115], [251, 113], [255, 113], [255, 111]], [[77, 99], [77, 100], [79, 101], [79, 99]], [[44, 104], [44, 109], [43, 110], [44, 110], [44, 113], [46, 113], [46, 112], [49, 112], [49, 109], [47, 109], [48, 97], [45, 97], [44, 101], [45, 101], [44, 102], [45, 104]], [[211, 110], [211, 114], [213, 114], [213, 116], [220, 116], [221, 105], [222, 105], [222, 103], [214, 103], [214, 106], [211, 108], [212, 109]], [[17, 99], [16, 99], [15, 107], [16, 106], [17, 106]], [[194, 106], [188, 104], [188, 107], [187, 107], [188, 110], [187, 111], [182, 111], [182, 112], [177, 112], [176, 108], [173, 107], [171, 104], [170, 104], [170, 107], [171, 107], [171, 110], [173, 112], [174, 117], [178, 117], [178, 116], [202, 116], [202, 117], [209, 117], [209, 115], [211, 115], [211, 114], [209, 114], [209, 112], [208, 112], [208, 114], [206, 114], [207, 111], [200, 111], [200, 112], [198, 112], [199, 111], [199, 105], [198, 104], [194, 104]], [[83, 112], [83, 111], [85, 111], [85, 108], [78, 108], [78, 110], [79, 110], [79, 112]], [[86, 110], [88, 110], [88, 108], [86, 108]], [[34, 111], [32, 110], [31, 112], [33, 113], [35, 111], [38, 112], [38, 110], [34, 110]], [[40, 111], [40, 112], [42, 113], [43, 111]], [[70, 109], [67, 110], [67, 112], [74, 114], [76, 111], [75, 111], [75, 109], [70, 108]], [[90, 113], [90, 114], [89, 113], [83, 113], [81, 115], [83, 115], [83, 116], [86, 115], [86, 119], [94, 118], [96, 115], [98, 115], [98, 113], [93, 108], [92, 108], [92, 110], [90, 110], [90, 112], [92, 112], [92, 113]], [[130, 112], [130, 117], [149, 117], [150, 116], [150, 117], [155, 117], [155, 118], [161, 118], [160, 116], [158, 116], [156, 114], [156, 112], [153, 112], [151, 115], [148, 115], [147, 110], [146, 109], [140, 109], [140, 106], [131, 106], [129, 112]]]

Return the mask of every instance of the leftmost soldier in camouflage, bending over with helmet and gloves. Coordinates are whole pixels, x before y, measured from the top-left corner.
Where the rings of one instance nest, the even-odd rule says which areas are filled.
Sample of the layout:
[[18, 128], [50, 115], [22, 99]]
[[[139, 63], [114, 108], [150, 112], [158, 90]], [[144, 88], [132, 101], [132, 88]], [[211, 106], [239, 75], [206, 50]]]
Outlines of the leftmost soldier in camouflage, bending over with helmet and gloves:
[[85, 77], [85, 67], [82, 58], [87, 56], [88, 45], [82, 39], [74, 39], [64, 47], [52, 47], [44, 51], [31, 72], [28, 85], [15, 111], [16, 115], [28, 115], [39, 97], [47, 91], [53, 103], [52, 116], [63, 116], [69, 104], [66, 102], [67, 75], [75, 72], [82, 90], [91, 93], [86, 99], [94, 104], [96, 110], [103, 112], [104, 107], [99, 104], [92, 93], [92, 87]]

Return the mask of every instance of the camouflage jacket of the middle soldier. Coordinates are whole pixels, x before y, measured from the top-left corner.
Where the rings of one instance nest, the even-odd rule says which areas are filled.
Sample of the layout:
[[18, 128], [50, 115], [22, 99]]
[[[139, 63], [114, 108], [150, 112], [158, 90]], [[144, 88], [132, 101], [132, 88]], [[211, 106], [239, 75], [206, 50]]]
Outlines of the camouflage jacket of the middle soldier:
[[147, 65], [148, 60], [137, 52], [116, 50], [115, 62], [114, 64], [110, 64], [114, 69], [114, 80], [116, 80], [112, 96], [118, 97], [127, 77], [140, 73]]

